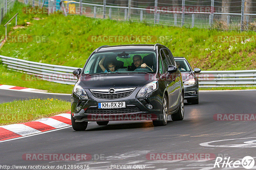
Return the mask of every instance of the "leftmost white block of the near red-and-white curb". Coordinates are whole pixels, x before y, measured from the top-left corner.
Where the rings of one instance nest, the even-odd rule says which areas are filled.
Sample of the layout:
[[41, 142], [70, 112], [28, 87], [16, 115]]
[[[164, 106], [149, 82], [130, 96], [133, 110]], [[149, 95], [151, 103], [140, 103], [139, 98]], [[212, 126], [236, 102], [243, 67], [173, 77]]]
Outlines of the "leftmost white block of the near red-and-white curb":
[[0, 127], [7, 129], [8, 131], [17, 133], [18, 135], [21, 135], [21, 136], [27, 136], [27, 135], [41, 132], [25, 124], [9, 124], [9, 125], [3, 125]]

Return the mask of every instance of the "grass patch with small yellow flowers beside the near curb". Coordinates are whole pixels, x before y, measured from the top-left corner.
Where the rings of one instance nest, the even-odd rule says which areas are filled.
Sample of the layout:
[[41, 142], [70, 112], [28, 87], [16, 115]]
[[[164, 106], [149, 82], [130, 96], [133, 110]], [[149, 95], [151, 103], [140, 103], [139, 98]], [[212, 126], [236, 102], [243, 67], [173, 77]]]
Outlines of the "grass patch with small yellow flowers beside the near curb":
[[[53, 111], [54, 110], [54, 111]], [[70, 102], [58, 99], [15, 100], [0, 104], [0, 125], [22, 123], [50, 117], [70, 110]]]

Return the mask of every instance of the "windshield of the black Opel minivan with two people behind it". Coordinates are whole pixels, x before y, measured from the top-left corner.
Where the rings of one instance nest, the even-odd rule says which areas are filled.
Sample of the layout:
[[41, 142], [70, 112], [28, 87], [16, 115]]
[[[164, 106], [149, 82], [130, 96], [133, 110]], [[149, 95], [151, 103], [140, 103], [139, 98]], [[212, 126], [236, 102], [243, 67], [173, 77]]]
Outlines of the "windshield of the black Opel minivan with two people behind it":
[[94, 53], [84, 68], [84, 74], [126, 72], [156, 73], [156, 53], [154, 51]]

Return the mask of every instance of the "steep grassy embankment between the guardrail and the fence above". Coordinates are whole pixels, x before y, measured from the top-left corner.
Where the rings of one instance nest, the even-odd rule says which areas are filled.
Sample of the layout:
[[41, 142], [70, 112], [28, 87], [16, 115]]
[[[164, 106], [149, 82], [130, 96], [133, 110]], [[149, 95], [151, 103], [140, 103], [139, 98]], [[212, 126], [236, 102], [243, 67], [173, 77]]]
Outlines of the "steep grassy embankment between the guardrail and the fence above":
[[[186, 57], [193, 68], [199, 67], [202, 70], [256, 69], [256, 43], [244, 43], [244, 39], [243, 42], [238, 41], [236, 43], [225, 42], [224, 39], [222, 39], [223, 42], [217, 40], [218, 35], [227, 39], [227, 37], [234, 35], [248, 35], [252, 37], [256, 36], [256, 32], [240, 33], [236, 31], [168, 27], [137, 22], [94, 19], [79, 15], [65, 17], [62, 14], [52, 14], [50, 16], [46, 14], [25, 14], [21, 11], [22, 4], [17, 3], [15, 5], [16, 7], [11, 12], [11, 15], [19, 12], [18, 25], [26, 25], [25, 22], [30, 22], [31, 25], [26, 25], [26, 28], [18, 30], [12, 30], [11, 26], [9, 26], [9, 31], [12, 31], [12, 35], [44, 36], [46, 37], [46, 42], [9, 42], [1, 48], [1, 55], [42, 63], [83, 67], [90, 53], [101, 45], [161, 43], [169, 47], [174, 56]], [[41, 19], [34, 20], [33, 18], [35, 17]], [[2, 23], [6, 20], [5, 18]], [[4, 34], [3, 28], [0, 29], [0, 33], [1, 35]], [[167, 38], [158, 39], [155, 42], [92, 43], [88, 39], [92, 35], [149, 35], [166, 36]], [[12, 83], [12, 81], [3, 82], [1, 80], [2, 77], [0, 84]], [[44, 85], [41, 83], [42, 89], [49, 90], [48, 88], [52, 85], [47, 86], [47, 83], [45, 82]], [[22, 86], [32, 87], [33, 83], [26, 84], [24, 82]], [[37, 85], [35, 84], [35, 86]], [[32, 88], [36, 88], [35, 86]], [[62, 89], [65, 91], [68, 88], [64, 86]], [[69, 87], [67, 93], [70, 92], [70, 89], [72, 90], [72, 86]], [[57, 89], [60, 88], [53, 88], [50, 91], [56, 92]]]

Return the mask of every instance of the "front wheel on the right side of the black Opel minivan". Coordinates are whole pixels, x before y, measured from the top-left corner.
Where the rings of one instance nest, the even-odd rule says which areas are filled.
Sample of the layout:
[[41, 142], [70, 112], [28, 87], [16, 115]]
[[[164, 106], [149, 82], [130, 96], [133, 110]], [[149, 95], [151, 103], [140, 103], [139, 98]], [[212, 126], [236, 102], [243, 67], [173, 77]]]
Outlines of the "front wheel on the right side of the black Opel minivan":
[[167, 97], [164, 95], [163, 104], [162, 104], [162, 114], [158, 117], [159, 120], [153, 120], [154, 126], [165, 126], [168, 119], [168, 101]]

